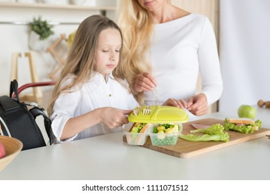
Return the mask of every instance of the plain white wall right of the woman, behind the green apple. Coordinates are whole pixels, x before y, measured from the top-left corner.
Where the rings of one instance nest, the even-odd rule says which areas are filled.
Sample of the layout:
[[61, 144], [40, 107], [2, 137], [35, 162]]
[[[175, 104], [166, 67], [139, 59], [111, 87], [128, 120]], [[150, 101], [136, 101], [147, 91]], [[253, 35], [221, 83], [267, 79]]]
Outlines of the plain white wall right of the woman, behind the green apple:
[[270, 100], [269, 24], [269, 0], [220, 0], [220, 111]]

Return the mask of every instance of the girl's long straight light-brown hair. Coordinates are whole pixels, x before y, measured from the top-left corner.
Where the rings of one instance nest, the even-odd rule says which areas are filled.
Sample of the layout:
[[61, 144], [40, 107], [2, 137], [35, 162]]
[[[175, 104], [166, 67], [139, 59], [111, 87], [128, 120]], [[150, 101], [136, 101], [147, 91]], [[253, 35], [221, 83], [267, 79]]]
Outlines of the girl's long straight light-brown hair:
[[[67, 56], [67, 62], [53, 89], [53, 96], [48, 107], [48, 114], [50, 116], [53, 113], [53, 105], [62, 92], [71, 92], [71, 89], [87, 82], [92, 76], [94, 71], [94, 56], [96, 55], [99, 35], [102, 30], [106, 30], [107, 28], [119, 30], [122, 41], [121, 44], [123, 45], [123, 37], [120, 28], [114, 21], [108, 19], [108, 17], [92, 15], [87, 17], [80, 26], [78, 26]], [[125, 79], [124, 71], [121, 67], [121, 50], [119, 64], [113, 71], [113, 76], [119, 81]], [[70, 76], [74, 78], [73, 81], [63, 85]]]

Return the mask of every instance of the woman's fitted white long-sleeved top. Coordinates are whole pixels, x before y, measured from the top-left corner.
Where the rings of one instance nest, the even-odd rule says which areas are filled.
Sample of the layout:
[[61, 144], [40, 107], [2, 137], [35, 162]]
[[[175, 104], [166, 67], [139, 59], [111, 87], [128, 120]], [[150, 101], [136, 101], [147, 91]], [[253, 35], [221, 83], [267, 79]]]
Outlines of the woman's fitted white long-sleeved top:
[[223, 90], [214, 30], [207, 17], [189, 14], [163, 24], [155, 24], [150, 62], [157, 87], [146, 91], [146, 105], [160, 105], [168, 98], [194, 96], [201, 73], [202, 93], [208, 105]]

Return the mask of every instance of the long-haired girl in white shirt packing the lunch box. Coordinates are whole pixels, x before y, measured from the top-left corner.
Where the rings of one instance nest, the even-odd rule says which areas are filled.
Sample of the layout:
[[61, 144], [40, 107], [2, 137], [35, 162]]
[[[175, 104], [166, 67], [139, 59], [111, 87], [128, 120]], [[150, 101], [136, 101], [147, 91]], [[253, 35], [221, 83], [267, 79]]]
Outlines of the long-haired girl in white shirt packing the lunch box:
[[121, 64], [122, 35], [101, 15], [85, 19], [53, 89], [49, 115], [56, 143], [119, 132], [138, 103]]

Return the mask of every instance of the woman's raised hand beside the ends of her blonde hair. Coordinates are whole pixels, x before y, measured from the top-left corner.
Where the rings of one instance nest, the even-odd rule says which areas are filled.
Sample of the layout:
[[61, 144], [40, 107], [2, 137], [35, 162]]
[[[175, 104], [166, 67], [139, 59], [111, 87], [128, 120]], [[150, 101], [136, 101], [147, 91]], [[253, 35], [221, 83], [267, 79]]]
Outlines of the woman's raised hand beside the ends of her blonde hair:
[[151, 91], [156, 87], [155, 78], [150, 73], [140, 73], [137, 75], [133, 87], [137, 92]]

